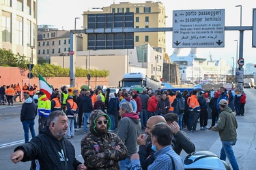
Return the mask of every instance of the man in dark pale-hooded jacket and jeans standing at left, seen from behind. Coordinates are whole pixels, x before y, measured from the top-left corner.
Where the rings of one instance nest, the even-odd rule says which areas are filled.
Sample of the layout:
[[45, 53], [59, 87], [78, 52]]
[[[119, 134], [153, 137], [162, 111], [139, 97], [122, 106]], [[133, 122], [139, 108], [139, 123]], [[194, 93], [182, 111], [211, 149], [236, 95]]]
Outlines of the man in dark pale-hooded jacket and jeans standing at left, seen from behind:
[[23, 123], [25, 143], [29, 142], [29, 129], [32, 138], [35, 137], [35, 116], [38, 114], [37, 106], [28, 94], [24, 94], [24, 103], [20, 111], [20, 121]]

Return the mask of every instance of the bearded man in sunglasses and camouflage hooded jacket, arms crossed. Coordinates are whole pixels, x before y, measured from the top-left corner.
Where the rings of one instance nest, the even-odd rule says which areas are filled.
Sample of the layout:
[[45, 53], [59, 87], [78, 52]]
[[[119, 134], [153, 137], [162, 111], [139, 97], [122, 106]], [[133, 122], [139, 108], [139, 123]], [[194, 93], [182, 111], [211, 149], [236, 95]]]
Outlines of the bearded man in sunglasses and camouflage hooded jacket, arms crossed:
[[122, 140], [110, 133], [111, 120], [100, 109], [91, 112], [91, 133], [81, 141], [82, 156], [87, 169], [120, 169], [119, 160], [127, 157], [128, 150]]

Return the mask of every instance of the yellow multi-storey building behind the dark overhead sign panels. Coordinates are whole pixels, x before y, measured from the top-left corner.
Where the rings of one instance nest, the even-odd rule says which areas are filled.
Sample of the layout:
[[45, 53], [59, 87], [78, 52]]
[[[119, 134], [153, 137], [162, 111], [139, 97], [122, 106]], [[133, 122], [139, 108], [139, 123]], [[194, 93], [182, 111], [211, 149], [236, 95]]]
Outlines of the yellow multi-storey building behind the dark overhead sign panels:
[[[100, 11], [83, 12], [83, 23], [87, 26], [87, 14], [134, 12], [134, 28], [166, 27], [165, 6], [162, 2], [145, 1], [145, 3], [120, 2], [102, 7]], [[134, 33], [134, 46], [150, 44], [154, 48], [166, 51], [165, 32]], [[83, 50], [87, 50], [87, 35], [84, 35]]]

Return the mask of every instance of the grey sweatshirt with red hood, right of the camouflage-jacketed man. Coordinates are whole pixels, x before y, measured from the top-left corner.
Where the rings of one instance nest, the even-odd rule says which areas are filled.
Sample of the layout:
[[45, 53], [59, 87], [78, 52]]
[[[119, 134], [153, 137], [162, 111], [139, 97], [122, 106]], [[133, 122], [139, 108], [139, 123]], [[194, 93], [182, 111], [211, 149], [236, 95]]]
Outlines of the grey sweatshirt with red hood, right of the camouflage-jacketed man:
[[126, 113], [118, 124], [117, 135], [128, 148], [128, 158], [137, 153], [137, 137], [141, 135], [141, 121], [136, 113]]

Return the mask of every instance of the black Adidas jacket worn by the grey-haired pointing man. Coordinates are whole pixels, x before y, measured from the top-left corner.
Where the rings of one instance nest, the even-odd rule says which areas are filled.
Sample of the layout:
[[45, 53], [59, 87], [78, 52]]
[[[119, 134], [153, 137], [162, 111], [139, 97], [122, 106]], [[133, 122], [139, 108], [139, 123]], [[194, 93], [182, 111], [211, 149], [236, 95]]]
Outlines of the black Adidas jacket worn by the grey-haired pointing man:
[[68, 159], [68, 170], [77, 169], [77, 166], [81, 164], [75, 158], [72, 143], [64, 137], [58, 140], [51, 134], [48, 126], [41, 134], [32, 138], [30, 142], [15, 148], [14, 152], [16, 150], [23, 150], [24, 157], [21, 160], [23, 162], [38, 159], [41, 170], [65, 169], [66, 158]]

